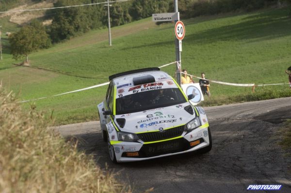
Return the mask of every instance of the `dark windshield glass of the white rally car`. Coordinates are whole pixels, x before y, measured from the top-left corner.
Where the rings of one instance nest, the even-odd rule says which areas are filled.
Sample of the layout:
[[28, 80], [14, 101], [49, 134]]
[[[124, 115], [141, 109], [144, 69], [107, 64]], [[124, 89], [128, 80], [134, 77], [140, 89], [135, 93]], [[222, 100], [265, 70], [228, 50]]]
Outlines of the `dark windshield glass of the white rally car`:
[[116, 114], [135, 113], [181, 103], [186, 103], [186, 99], [178, 88], [137, 92], [116, 99]]

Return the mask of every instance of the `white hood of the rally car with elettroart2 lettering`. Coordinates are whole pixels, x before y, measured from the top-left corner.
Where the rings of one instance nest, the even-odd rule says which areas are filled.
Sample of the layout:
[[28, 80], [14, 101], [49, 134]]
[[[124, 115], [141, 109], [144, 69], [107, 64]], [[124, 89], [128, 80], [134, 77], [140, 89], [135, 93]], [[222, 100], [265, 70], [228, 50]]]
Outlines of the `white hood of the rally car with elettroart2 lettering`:
[[[140, 133], [148, 131], [159, 131], [159, 128], [171, 128], [183, 125], [195, 118], [188, 113], [184, 107], [190, 105], [188, 102], [162, 108], [145, 110], [137, 113], [116, 115], [115, 123], [124, 127], [120, 128], [123, 132]], [[193, 110], [194, 111], [194, 110]]]

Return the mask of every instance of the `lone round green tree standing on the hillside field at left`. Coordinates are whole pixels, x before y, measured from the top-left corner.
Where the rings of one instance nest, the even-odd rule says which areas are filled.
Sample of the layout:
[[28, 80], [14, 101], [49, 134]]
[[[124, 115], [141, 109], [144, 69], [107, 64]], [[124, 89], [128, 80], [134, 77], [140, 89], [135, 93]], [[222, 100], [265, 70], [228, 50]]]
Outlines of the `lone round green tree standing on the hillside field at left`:
[[37, 20], [33, 20], [28, 26], [24, 26], [18, 32], [9, 37], [11, 53], [14, 59], [26, 57], [38, 49], [48, 48], [51, 45], [49, 35], [44, 26]]

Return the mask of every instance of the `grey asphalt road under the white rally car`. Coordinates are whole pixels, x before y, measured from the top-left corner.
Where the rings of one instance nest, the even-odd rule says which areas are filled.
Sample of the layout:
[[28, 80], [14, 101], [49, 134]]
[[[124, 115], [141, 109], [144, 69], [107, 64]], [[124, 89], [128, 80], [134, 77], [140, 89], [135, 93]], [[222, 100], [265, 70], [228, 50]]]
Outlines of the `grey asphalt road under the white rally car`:
[[[240, 193], [252, 184], [279, 184], [278, 192], [291, 193], [291, 157], [278, 145], [282, 122], [291, 119], [291, 97], [242, 104], [206, 107], [212, 150], [133, 163], [111, 163], [97, 121], [56, 127], [74, 135], [80, 149], [96, 154], [134, 193]], [[254, 191], [274, 192], [274, 191]]]

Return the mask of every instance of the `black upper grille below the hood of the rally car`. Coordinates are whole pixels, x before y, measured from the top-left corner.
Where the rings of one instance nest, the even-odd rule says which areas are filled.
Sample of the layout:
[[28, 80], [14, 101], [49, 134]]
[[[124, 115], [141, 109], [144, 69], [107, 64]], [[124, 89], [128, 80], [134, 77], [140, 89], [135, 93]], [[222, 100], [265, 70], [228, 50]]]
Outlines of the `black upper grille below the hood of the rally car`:
[[164, 130], [163, 132], [149, 132], [137, 135], [144, 142], [159, 141], [180, 136], [184, 132], [184, 128], [185, 125], [182, 125], [179, 127], [174, 127], [172, 129]]

